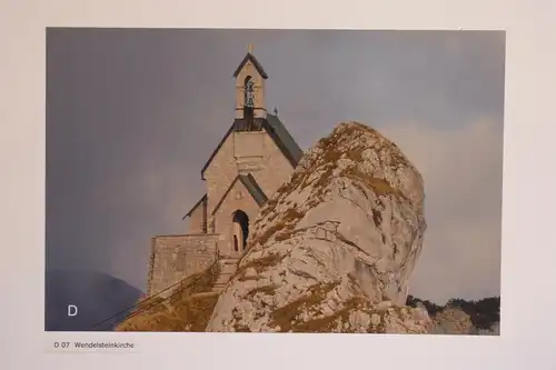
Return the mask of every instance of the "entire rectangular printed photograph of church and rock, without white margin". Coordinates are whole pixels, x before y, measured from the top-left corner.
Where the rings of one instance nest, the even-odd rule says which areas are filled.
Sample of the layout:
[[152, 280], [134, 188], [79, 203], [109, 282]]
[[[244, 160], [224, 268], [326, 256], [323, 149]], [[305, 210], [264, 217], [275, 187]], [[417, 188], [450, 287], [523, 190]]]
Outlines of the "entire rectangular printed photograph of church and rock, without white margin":
[[44, 331], [499, 336], [505, 56], [47, 28]]

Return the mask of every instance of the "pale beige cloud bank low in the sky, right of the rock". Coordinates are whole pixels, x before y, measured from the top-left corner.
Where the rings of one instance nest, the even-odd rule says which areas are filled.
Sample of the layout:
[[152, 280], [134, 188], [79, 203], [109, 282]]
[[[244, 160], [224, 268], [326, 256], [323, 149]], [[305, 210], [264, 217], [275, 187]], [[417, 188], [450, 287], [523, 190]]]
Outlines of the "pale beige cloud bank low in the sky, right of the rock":
[[502, 122], [480, 118], [451, 130], [386, 126], [425, 180], [427, 232], [411, 293], [444, 302], [499, 294]]

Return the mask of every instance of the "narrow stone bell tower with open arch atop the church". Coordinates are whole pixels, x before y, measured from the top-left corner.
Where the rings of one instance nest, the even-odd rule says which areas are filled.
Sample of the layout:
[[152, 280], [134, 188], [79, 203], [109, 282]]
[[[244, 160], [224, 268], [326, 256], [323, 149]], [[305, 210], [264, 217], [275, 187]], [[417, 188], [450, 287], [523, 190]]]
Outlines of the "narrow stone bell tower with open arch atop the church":
[[246, 127], [256, 127], [256, 121], [267, 118], [265, 82], [268, 74], [252, 54], [250, 43], [239, 67], [234, 72], [236, 80], [236, 119]]

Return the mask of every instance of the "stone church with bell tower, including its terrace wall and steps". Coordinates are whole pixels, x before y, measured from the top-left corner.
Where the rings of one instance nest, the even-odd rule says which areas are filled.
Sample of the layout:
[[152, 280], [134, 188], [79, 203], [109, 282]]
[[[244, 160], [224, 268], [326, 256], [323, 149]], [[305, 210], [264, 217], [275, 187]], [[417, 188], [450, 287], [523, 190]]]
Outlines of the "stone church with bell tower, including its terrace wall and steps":
[[252, 46], [232, 77], [234, 120], [201, 169], [206, 192], [183, 216], [187, 233], [151, 239], [147, 296], [205, 270], [217, 257], [215, 289], [224, 289], [246, 251], [250, 224], [302, 156], [277, 112], [267, 111], [268, 74]]

